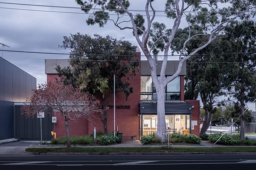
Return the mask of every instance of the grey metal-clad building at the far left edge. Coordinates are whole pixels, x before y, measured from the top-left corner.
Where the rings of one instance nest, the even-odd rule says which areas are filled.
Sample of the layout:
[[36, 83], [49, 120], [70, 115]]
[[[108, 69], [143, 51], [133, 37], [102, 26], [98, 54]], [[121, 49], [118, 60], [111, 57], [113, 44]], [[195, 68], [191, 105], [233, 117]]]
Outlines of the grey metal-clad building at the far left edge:
[[35, 88], [35, 77], [0, 57], [0, 140], [14, 138], [14, 104]]

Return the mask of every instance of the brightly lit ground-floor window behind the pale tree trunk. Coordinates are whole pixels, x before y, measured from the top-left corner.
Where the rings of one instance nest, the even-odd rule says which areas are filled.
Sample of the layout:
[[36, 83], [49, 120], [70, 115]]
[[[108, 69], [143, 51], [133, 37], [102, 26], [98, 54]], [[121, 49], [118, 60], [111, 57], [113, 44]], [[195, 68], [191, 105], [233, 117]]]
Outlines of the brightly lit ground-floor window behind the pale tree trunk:
[[[142, 115], [142, 135], [157, 132], [157, 115]], [[166, 129], [170, 133], [189, 134], [190, 116], [189, 115], [166, 115]]]

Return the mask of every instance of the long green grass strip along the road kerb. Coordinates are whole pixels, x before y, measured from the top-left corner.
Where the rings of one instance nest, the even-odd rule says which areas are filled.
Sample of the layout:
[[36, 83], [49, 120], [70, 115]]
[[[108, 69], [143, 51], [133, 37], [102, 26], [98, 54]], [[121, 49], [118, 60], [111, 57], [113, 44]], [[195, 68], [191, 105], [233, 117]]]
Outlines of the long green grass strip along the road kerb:
[[27, 148], [26, 152], [36, 153], [195, 153], [195, 152], [256, 152], [256, 147], [56, 147]]

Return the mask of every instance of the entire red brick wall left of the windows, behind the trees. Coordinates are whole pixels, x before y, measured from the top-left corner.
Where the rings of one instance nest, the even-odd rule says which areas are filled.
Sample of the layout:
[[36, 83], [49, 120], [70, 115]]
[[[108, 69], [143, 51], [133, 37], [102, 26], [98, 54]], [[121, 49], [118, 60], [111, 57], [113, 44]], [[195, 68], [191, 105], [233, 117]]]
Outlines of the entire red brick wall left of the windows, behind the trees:
[[[136, 53], [140, 59], [140, 53]], [[47, 82], [55, 81], [55, 78], [60, 80], [57, 74], [47, 74]], [[126, 79], [126, 78], [124, 78]], [[134, 87], [133, 94], [128, 96], [128, 100], [125, 99], [125, 94], [120, 92], [116, 95], [116, 106], [121, 106], [124, 109], [116, 108], [115, 117], [116, 117], [116, 127], [118, 126], [118, 131], [123, 133], [123, 136], [132, 136], [136, 135], [139, 139], [139, 103], [140, 103], [140, 73], [137, 73], [136, 77], [129, 79], [131, 86]], [[113, 96], [111, 102], [108, 105], [114, 105]], [[128, 109], [124, 106], [130, 106]], [[108, 132], [114, 131], [114, 109], [110, 108], [108, 111]], [[55, 132], [56, 137], [66, 136], [66, 129], [64, 123], [64, 117], [59, 116], [58, 113], [54, 114], [57, 116], [57, 123], [55, 123]], [[96, 114], [95, 118], [92, 118], [92, 121], [87, 119], [80, 118], [77, 122], [68, 121], [70, 136], [82, 136], [93, 134], [94, 127], [96, 131], [103, 132], [103, 123], [99, 119], [99, 116]], [[116, 128], [117, 131], [117, 128]], [[123, 137], [122, 140], [131, 140], [131, 138]]]

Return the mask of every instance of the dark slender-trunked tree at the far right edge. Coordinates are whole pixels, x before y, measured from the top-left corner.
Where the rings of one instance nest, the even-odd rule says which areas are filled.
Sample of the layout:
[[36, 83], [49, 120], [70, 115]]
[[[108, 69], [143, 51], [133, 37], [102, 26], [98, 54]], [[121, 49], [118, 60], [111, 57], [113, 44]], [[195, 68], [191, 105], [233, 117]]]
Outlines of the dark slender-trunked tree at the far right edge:
[[234, 21], [225, 29], [233, 53], [230, 70], [227, 71], [227, 95], [240, 103], [241, 133], [244, 139], [245, 103], [256, 98], [256, 23], [251, 20]]

